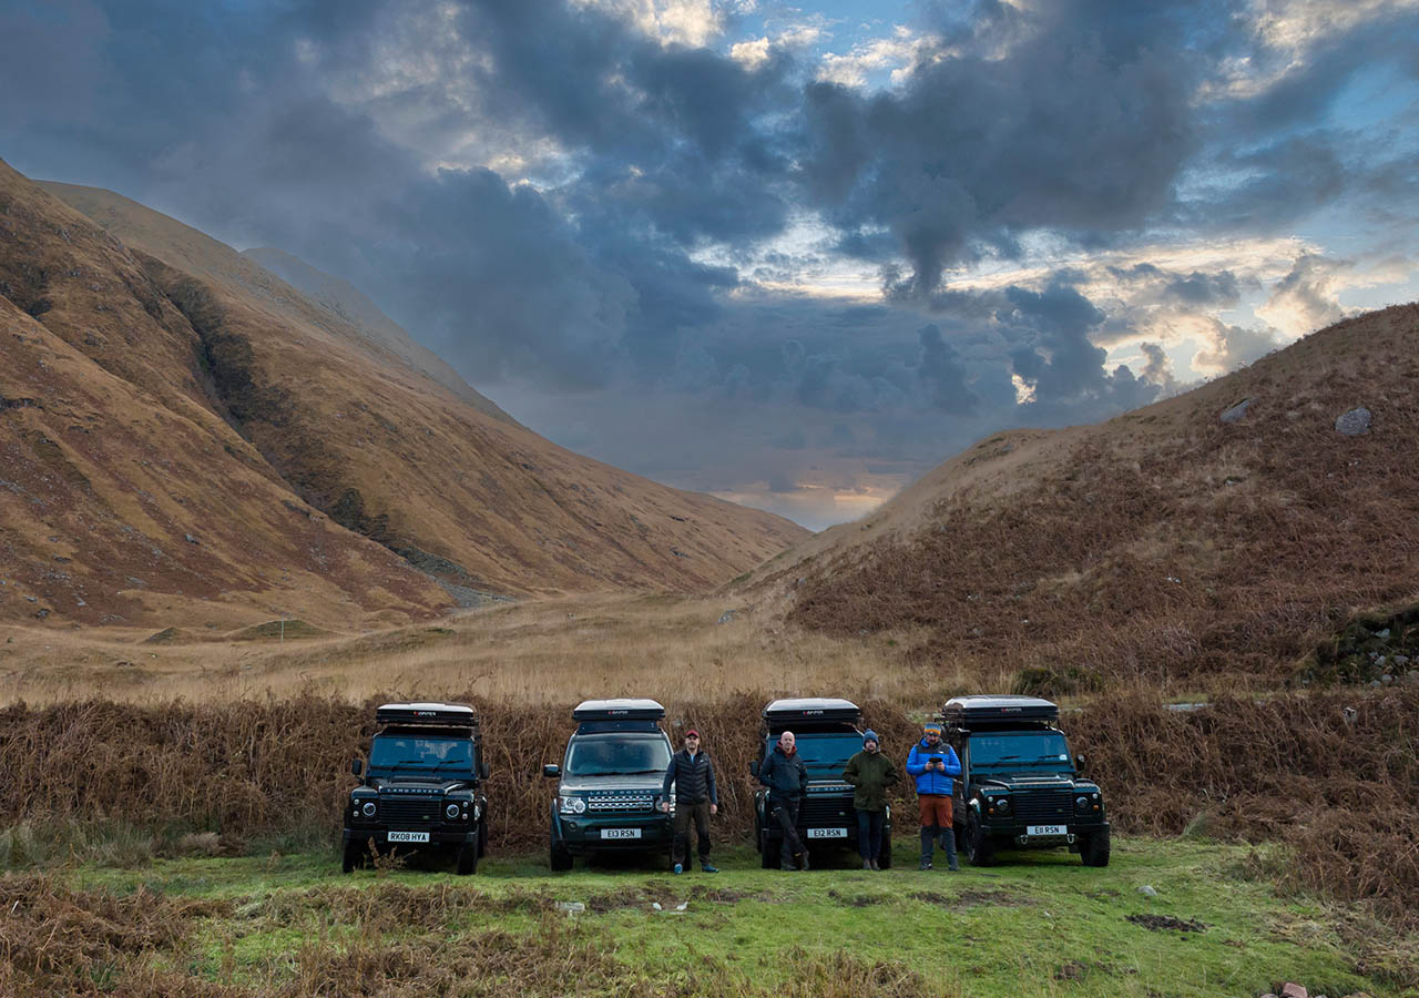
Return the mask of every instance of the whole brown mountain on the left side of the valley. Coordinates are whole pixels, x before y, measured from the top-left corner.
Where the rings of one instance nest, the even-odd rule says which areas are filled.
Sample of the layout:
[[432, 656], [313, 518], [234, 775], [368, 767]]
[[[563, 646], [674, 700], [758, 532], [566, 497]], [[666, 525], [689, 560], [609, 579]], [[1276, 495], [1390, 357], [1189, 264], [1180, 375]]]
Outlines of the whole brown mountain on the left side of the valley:
[[[250, 618], [243, 610], [243, 620], [280, 609], [338, 626], [385, 609], [427, 615], [480, 591], [694, 589], [805, 535], [778, 517], [562, 450], [491, 403], [461, 397], [389, 344], [372, 342], [369, 329], [308, 301], [230, 247], [106, 192], [75, 200], [106, 229], [0, 163], [7, 332], [0, 395], [14, 400], [0, 413], [6, 467], [45, 474], [40, 450], [50, 444], [31, 439], [38, 433], [82, 473], [50, 474], [57, 491], [43, 507], [16, 474], [3, 477], [26, 491], [0, 490], [6, 544], [17, 531], [30, 538], [27, 561], [71, 559], [58, 564], [67, 565], [64, 585], [75, 595], [55, 613], [109, 616], [95, 608], [116, 599], [114, 592], [160, 589], [175, 599], [177, 592], [206, 596], [209, 613], [217, 613], [213, 605], [264, 608]], [[45, 382], [43, 372], [55, 368], [41, 346], [64, 348], [67, 380]], [[85, 409], [54, 407], [81, 389]], [[81, 416], [104, 427], [87, 463], [74, 460], [67, 436], [84, 424]], [[33, 424], [21, 427], [21, 420]], [[91, 508], [79, 477], [95, 491], [92, 483], [112, 478], [114, 494]], [[146, 525], [128, 518], [149, 503], [163, 515]], [[50, 522], [55, 504], [81, 512], [72, 522]], [[119, 522], [145, 535], [158, 531], [150, 548], [163, 558], [201, 561], [206, 568], [189, 565], [201, 585], [106, 571], [115, 538], [89, 527], [109, 507], [122, 510]], [[312, 548], [311, 524], [322, 537], [342, 537], [342, 551], [365, 554], [336, 559]], [[264, 535], [272, 547], [247, 565], [247, 544]], [[58, 539], [43, 544], [64, 549], [33, 547], [33, 538], [50, 537]], [[74, 568], [79, 558], [84, 571]], [[220, 569], [207, 564], [211, 558]], [[307, 564], [325, 574], [331, 602], [268, 599], [271, 572], [289, 571], [294, 581]], [[383, 592], [387, 572], [402, 579], [387, 582], [397, 598]], [[368, 575], [368, 585], [349, 574]], [[126, 582], [129, 575], [138, 582]], [[430, 575], [446, 588], [433, 586]], [[78, 595], [81, 581], [87, 596]], [[292, 582], [289, 589], [321, 586]], [[160, 602], [146, 598], [143, 606]], [[9, 616], [4, 606], [0, 601]], [[136, 623], [135, 613], [129, 606], [123, 616]], [[156, 610], [139, 616], [172, 622]]]

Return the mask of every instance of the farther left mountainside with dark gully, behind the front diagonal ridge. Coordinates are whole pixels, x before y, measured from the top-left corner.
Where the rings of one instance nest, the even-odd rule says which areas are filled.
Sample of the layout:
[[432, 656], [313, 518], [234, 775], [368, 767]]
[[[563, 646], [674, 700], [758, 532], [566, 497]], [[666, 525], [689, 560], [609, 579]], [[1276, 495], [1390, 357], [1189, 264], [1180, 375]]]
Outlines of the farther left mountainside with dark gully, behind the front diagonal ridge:
[[[460, 601], [487, 591], [688, 591], [806, 535], [562, 450], [172, 219], [106, 192], [54, 187], [105, 231], [13, 170], [0, 173], [6, 203], [17, 206], [6, 216], [0, 294], [146, 393], [145, 403], [200, 410], [203, 430], [274, 488], [417, 569], [416, 588], [433, 575]], [[77, 233], [102, 244], [112, 271], [104, 280], [70, 258]], [[421, 612], [451, 602], [429, 598]]]

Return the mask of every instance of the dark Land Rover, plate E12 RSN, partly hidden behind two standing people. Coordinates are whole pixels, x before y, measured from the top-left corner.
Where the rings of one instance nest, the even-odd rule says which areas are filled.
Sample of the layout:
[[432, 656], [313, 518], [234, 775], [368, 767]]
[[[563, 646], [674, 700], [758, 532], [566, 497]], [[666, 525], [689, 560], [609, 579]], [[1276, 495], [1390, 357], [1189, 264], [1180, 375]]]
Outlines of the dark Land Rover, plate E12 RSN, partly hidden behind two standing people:
[[[863, 748], [858, 730], [861, 711], [850, 700], [775, 700], [763, 708], [759, 761], [749, 764], [758, 777], [759, 765], [779, 741], [792, 731], [797, 740], [797, 754], [807, 768], [809, 786], [799, 808], [797, 833], [805, 846], [857, 848], [857, 811], [853, 808], [853, 786], [843, 782], [843, 768]], [[753, 796], [755, 845], [763, 869], [778, 869], [783, 835], [768, 813], [769, 792], [763, 788]], [[891, 808], [883, 821], [883, 848], [877, 856], [883, 869], [891, 866]]]

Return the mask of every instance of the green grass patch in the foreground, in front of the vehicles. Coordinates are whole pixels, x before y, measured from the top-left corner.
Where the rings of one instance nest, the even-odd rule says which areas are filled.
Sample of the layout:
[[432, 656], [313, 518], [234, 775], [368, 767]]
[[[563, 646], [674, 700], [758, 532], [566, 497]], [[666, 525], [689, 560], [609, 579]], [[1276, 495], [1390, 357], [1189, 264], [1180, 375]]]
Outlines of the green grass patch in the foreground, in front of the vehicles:
[[[1259, 995], [1287, 980], [1335, 997], [1415, 994], [1382, 970], [1371, 977], [1357, 970], [1382, 961], [1355, 951], [1355, 933], [1338, 931], [1355, 913], [1279, 897], [1247, 873], [1266, 869], [1254, 859], [1246, 846], [1115, 839], [1107, 869], [1056, 852], [1007, 855], [990, 869], [920, 872], [914, 843], [900, 842], [897, 869], [883, 873], [761, 870], [755, 853], [729, 849], [717, 853], [724, 872], [714, 876], [580, 863], [551, 874], [539, 857], [525, 856], [488, 857], [473, 877], [409, 869], [343, 876], [333, 855], [155, 860], [65, 876], [85, 890], [145, 887], [230, 901], [230, 914], [200, 923], [186, 972], [237, 984], [280, 978], [282, 961], [289, 965], [305, 944], [389, 945], [431, 936], [475, 947], [480, 933], [531, 938], [556, 923], [651, 982], [684, 985], [710, 967], [765, 994], [792, 982], [799, 964], [783, 957], [795, 947], [807, 960], [847, 951], [866, 964], [905, 965], [929, 994], [979, 998]], [[1142, 894], [1144, 884], [1156, 896]], [[566, 916], [558, 901], [582, 901], [587, 911]], [[681, 903], [685, 911], [677, 913]], [[412, 921], [382, 916], [396, 907], [413, 911]], [[1155, 930], [1128, 916], [1205, 928]]]

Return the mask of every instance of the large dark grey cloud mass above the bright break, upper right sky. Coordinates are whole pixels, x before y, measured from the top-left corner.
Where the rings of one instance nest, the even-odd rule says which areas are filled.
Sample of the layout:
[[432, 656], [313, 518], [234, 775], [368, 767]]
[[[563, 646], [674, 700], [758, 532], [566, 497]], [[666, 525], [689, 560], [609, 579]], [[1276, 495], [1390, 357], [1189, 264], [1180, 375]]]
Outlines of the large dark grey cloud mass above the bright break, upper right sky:
[[[929, 295], [946, 265], [1016, 256], [1029, 231], [1097, 243], [1138, 229], [1200, 148], [1198, 41], [1232, 7], [1043, 4], [1029, 24], [1012, 20], [1006, 58], [979, 38], [962, 54], [952, 23], [949, 50], [900, 94], [807, 89], [805, 183], [843, 248], [881, 258], [880, 233], [894, 236], [912, 264], [894, 281], [908, 295]], [[982, 11], [996, 28], [999, 7]]]

